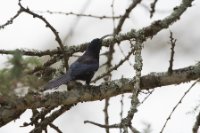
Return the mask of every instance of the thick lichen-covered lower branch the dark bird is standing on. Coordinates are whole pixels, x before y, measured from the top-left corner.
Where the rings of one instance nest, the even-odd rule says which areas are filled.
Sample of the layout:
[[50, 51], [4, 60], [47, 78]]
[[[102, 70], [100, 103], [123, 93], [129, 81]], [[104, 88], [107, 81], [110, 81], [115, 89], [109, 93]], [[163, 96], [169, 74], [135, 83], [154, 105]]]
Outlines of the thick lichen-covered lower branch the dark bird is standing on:
[[[141, 89], [149, 90], [155, 87], [185, 83], [198, 78], [200, 78], [200, 63], [197, 63], [194, 66], [173, 70], [170, 75], [168, 72], [161, 72], [142, 76]], [[99, 86], [76, 85], [71, 91], [67, 92], [54, 92], [49, 94], [29, 93], [25, 97], [16, 99], [15, 103], [13, 103], [14, 105], [9, 107], [9, 110], [25, 110], [28, 108], [34, 109], [62, 104], [71, 105], [79, 102], [102, 100], [123, 93], [131, 93], [134, 88], [134, 83], [134, 78], [122, 78], [102, 83]], [[0, 99], [2, 99], [1, 96]], [[8, 109], [2, 106], [0, 110], [0, 126], [11, 121], [11, 114], [9, 114], [9, 120], [5, 119], [8, 117], [5, 115], [5, 111], [8, 111]], [[12, 114], [13, 120], [16, 119], [14, 113]]]

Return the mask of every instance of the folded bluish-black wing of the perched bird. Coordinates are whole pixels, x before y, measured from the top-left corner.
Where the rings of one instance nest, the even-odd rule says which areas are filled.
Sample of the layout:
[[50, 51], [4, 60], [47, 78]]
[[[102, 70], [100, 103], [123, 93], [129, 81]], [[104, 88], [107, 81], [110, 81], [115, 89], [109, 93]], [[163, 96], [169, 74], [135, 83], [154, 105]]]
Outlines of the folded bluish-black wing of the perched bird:
[[94, 63], [83, 63], [83, 62], [74, 62], [70, 66], [70, 73], [72, 76], [77, 76], [81, 75], [87, 72], [95, 72], [99, 68], [99, 63], [94, 62]]

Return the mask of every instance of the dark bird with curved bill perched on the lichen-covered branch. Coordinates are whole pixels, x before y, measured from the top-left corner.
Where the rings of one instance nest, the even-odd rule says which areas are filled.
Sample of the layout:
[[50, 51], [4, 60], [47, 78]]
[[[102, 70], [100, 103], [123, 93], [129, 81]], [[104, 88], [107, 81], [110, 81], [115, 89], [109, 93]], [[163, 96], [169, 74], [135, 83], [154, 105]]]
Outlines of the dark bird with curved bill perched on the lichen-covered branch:
[[44, 89], [52, 89], [59, 87], [62, 84], [67, 84], [69, 81], [83, 80], [89, 85], [94, 73], [99, 68], [99, 53], [102, 40], [94, 39], [90, 42], [85, 53], [79, 57], [68, 69], [68, 72], [61, 75], [57, 79], [49, 81]]

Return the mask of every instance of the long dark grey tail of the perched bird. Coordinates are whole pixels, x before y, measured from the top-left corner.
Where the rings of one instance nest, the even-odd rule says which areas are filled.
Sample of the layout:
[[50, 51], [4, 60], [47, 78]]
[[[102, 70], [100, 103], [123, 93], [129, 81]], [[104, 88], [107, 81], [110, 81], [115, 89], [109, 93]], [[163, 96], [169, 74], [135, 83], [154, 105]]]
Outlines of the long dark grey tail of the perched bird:
[[64, 74], [61, 75], [60, 77], [49, 81], [45, 86], [44, 86], [44, 90], [49, 90], [49, 89], [53, 89], [56, 87], [59, 87], [62, 84], [66, 84], [67, 82], [69, 82], [71, 80], [70, 75], [69, 74]]

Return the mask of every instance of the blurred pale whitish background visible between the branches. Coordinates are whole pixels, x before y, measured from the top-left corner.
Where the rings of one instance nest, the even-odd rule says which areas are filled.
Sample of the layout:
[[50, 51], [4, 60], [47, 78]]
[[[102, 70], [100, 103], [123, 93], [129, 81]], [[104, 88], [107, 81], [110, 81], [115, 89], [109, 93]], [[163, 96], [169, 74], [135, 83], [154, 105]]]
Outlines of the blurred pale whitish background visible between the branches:
[[[116, 16], [123, 15], [131, 0], [115, 0], [114, 14]], [[148, 26], [151, 22], [165, 18], [173, 8], [180, 4], [180, 0], [158, 0], [156, 12], [153, 18], [150, 18], [150, 4], [153, 0], [143, 0], [130, 14], [122, 27], [122, 33], [126, 33], [131, 29], [141, 29]], [[97, 16], [112, 16], [112, 0], [23, 0], [24, 7], [29, 7], [32, 11], [41, 14], [49, 23], [59, 32], [59, 35], [65, 45], [78, 45], [89, 42], [94, 38], [100, 38], [106, 34], [113, 32], [112, 19], [97, 19], [92, 17], [77, 17], [75, 15], [49, 14], [49, 11], [73, 12], [81, 14], [92, 14]], [[0, 4], [0, 25], [4, 24], [18, 11], [17, 0], [1, 1]], [[169, 35], [173, 32], [174, 38], [177, 39], [175, 46], [174, 69], [183, 68], [196, 64], [200, 59], [200, 1], [193, 2], [190, 7], [180, 18], [179, 21], [162, 30], [152, 39], [148, 39], [144, 43], [142, 51], [143, 70], [142, 75], [151, 72], [165, 72], [169, 66], [170, 48]], [[116, 19], [115, 25], [118, 24]], [[126, 45], [127, 43], [127, 45]], [[32, 16], [22, 13], [13, 24], [0, 30], [0, 49], [36, 49], [46, 50], [58, 47], [54, 34], [45, 24]], [[124, 41], [121, 44], [124, 53], [128, 53], [130, 45]], [[103, 52], [106, 48], [103, 48]], [[0, 55], [0, 68], [6, 67], [7, 55]], [[119, 48], [115, 47], [114, 58], [112, 64], [117, 64], [123, 59], [123, 54]], [[100, 59], [101, 64], [104, 58]], [[134, 57], [129, 60], [134, 63]], [[98, 73], [105, 71], [99, 70]], [[98, 75], [98, 73], [96, 75]], [[134, 76], [133, 66], [125, 62], [117, 71], [113, 71], [112, 79], [119, 79], [123, 75], [125, 78]], [[161, 130], [169, 113], [182, 97], [184, 92], [191, 86], [193, 82], [181, 85], [172, 85], [156, 88], [153, 94], [139, 107], [137, 114], [133, 119], [133, 125], [138, 130], [143, 131], [150, 128], [152, 133]], [[193, 87], [192, 91], [184, 98], [182, 104], [169, 120], [165, 131], [166, 133], [190, 133], [195, 121], [196, 113], [194, 108], [200, 104], [199, 84]], [[145, 94], [141, 94], [139, 98], [142, 100]], [[120, 121], [120, 100], [121, 96], [110, 99], [109, 120], [110, 124]], [[130, 94], [124, 96], [124, 116], [130, 106]], [[55, 120], [55, 124], [65, 133], [88, 133], [98, 132], [104, 133], [105, 129], [101, 129], [94, 125], [84, 124], [84, 120], [91, 120], [98, 123], [104, 123], [104, 100], [79, 103], [77, 106], [64, 113]], [[198, 109], [199, 110], [199, 109]], [[29, 121], [31, 112], [26, 111], [20, 119], [10, 122], [6, 126], [0, 128], [0, 133], [12, 131], [18, 133], [27, 133], [31, 127], [21, 128], [25, 121]], [[49, 129], [49, 133], [55, 131]], [[119, 129], [111, 129], [111, 132], [118, 133]]]

